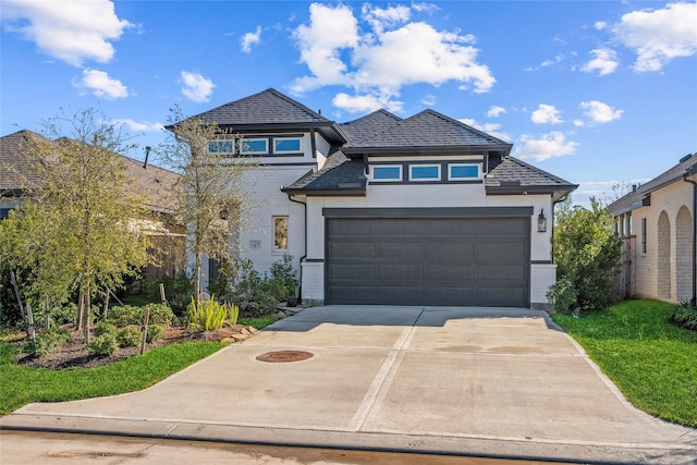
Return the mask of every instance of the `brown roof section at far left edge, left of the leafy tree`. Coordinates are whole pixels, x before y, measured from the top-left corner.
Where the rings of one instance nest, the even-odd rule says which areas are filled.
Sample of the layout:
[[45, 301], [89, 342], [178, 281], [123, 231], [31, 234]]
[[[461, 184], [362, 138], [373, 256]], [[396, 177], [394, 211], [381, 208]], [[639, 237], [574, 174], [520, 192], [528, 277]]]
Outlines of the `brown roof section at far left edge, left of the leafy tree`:
[[36, 181], [23, 155], [30, 138], [45, 139], [28, 130], [0, 137], [0, 195], [19, 195]]

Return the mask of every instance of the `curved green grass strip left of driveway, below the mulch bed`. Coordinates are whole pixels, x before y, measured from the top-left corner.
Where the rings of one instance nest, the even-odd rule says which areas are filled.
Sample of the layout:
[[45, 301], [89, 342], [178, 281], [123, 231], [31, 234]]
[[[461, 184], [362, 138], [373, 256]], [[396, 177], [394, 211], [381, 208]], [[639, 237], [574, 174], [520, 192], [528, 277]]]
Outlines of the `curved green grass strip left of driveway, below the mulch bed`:
[[222, 342], [187, 342], [154, 348], [97, 368], [48, 370], [14, 364], [14, 346], [0, 342], [0, 414], [30, 402], [62, 402], [138, 391], [219, 351]]

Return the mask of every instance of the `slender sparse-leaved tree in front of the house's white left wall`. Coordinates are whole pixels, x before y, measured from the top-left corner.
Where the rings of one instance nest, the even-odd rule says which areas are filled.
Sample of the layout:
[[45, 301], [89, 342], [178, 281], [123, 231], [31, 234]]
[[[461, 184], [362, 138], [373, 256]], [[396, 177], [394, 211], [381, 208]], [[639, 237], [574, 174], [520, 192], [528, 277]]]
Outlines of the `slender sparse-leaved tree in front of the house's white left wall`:
[[182, 224], [186, 224], [186, 248], [194, 259], [192, 282], [198, 307], [204, 255], [223, 261], [231, 258], [230, 235], [241, 230], [252, 205], [247, 191], [240, 187], [244, 172], [256, 163], [209, 150], [209, 144], [216, 139], [222, 138], [232, 147], [240, 142], [239, 134], [231, 134], [216, 123], [185, 117], [179, 107], [170, 110], [169, 122], [171, 137], [158, 147], [156, 155], [163, 166], [182, 175], [172, 186], [172, 205]]

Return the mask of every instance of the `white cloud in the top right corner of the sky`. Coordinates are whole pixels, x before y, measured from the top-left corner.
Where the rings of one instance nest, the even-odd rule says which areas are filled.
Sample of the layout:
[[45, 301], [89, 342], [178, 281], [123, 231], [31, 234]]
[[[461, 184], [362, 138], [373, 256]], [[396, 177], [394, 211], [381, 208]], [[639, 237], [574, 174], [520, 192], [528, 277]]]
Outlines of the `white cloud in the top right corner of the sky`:
[[612, 26], [615, 38], [636, 54], [636, 72], [660, 71], [671, 60], [697, 53], [697, 3], [669, 3], [622, 16]]

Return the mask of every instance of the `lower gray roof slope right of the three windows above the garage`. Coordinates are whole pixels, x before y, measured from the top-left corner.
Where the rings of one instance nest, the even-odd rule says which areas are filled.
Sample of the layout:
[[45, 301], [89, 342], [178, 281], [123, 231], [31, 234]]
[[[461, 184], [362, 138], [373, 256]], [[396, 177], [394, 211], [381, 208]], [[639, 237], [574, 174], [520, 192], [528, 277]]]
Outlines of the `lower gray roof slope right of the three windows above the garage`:
[[529, 194], [549, 193], [554, 200], [575, 191], [578, 184], [572, 184], [525, 161], [508, 156], [492, 158], [489, 173], [485, 178], [488, 194]]

